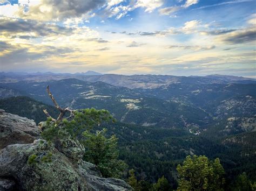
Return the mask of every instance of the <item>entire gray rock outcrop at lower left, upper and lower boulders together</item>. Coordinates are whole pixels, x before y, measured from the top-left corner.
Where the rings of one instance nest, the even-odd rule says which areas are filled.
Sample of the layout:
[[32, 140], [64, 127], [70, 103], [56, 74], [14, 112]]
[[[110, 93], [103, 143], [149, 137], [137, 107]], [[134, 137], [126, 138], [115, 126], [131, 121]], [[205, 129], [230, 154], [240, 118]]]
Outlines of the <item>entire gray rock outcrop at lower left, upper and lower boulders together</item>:
[[[14, 125], [9, 135], [34, 133], [33, 126], [26, 127], [31, 132], [25, 126], [21, 128], [21, 124], [33, 124], [29, 119], [2, 115], [9, 116], [9, 126]], [[83, 153], [84, 147], [72, 139], [63, 140], [58, 147], [43, 139], [8, 145], [0, 150], [0, 190], [132, 190], [123, 180], [102, 178], [96, 165], [82, 160]]]

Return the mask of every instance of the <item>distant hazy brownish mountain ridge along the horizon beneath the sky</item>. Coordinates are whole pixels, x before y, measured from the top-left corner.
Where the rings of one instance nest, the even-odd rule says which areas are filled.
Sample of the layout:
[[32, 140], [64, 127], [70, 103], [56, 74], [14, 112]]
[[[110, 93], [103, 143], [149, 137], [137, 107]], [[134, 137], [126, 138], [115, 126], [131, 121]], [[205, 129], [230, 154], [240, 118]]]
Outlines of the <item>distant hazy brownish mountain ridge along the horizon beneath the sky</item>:
[[18, 81], [51, 81], [75, 78], [90, 82], [105, 82], [113, 86], [126, 87], [130, 89], [154, 89], [167, 87], [176, 83], [188, 84], [228, 84], [228, 83], [256, 83], [255, 79], [235, 76], [209, 75], [209, 76], [171, 76], [171, 75], [117, 75], [100, 74], [93, 71], [86, 73], [0, 73], [0, 83], [10, 83]]

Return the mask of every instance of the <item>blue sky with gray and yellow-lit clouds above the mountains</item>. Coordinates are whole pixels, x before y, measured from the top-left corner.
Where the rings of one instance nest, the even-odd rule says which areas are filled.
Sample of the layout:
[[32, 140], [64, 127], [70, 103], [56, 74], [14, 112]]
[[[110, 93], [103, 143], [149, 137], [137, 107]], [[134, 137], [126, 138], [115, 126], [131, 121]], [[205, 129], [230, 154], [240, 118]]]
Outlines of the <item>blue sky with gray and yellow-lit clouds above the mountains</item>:
[[256, 0], [0, 0], [0, 71], [256, 77]]

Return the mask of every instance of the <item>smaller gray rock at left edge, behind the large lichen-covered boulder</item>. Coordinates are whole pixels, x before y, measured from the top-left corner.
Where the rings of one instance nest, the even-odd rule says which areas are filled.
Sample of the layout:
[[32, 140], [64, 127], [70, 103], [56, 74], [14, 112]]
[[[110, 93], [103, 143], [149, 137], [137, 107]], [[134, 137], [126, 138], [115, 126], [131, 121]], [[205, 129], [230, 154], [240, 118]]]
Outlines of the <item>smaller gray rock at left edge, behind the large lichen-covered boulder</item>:
[[36, 123], [0, 109], [0, 149], [10, 144], [33, 143], [39, 137]]

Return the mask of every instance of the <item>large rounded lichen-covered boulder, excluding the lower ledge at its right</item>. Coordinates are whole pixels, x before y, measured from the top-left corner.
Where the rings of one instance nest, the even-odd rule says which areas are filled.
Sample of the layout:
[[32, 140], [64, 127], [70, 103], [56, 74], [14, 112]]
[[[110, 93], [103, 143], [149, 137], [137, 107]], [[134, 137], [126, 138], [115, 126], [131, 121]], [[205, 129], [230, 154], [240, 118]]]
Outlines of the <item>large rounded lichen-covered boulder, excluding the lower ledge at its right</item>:
[[11, 177], [20, 190], [88, 190], [70, 160], [42, 139], [6, 146], [0, 151], [0, 169], [0, 177]]

